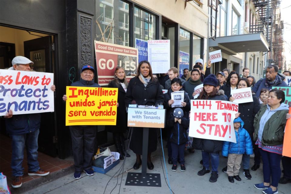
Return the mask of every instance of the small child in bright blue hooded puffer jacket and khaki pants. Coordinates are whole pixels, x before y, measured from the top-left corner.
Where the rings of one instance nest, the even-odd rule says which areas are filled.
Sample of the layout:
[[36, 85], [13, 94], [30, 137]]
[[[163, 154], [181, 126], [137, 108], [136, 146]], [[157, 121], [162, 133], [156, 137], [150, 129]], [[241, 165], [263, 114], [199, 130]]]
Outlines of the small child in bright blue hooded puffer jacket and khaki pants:
[[233, 120], [234, 130], [236, 134], [236, 143], [223, 142], [222, 156], [228, 156], [227, 175], [229, 182], [234, 182], [233, 179], [241, 181], [239, 177], [240, 163], [242, 162], [243, 154], [253, 154], [253, 144], [249, 133], [243, 128], [244, 122], [238, 117]]

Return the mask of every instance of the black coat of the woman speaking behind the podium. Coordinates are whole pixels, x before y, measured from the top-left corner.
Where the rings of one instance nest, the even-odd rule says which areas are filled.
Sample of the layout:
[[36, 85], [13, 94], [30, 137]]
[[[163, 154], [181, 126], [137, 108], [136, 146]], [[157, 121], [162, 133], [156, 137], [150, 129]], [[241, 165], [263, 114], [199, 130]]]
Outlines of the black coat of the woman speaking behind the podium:
[[[163, 104], [164, 96], [159, 82], [150, 82], [144, 86], [144, 84], [139, 80], [139, 78], [132, 78], [129, 81], [127, 91], [125, 94], [125, 104], [128, 106], [135, 101], [138, 105], [154, 105]], [[142, 155], [142, 136], [143, 129], [139, 127], [134, 127], [132, 129], [132, 137], [130, 140], [129, 148], [135, 153]], [[149, 129], [149, 144], [148, 153], [154, 152], [157, 149], [157, 129]]]

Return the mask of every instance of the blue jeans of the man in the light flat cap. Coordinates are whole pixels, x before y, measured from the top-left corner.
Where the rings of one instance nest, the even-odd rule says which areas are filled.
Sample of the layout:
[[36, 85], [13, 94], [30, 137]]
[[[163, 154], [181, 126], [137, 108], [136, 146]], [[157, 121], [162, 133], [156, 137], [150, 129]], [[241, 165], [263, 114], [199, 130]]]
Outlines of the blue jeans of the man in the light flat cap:
[[24, 147], [26, 146], [28, 171], [36, 172], [39, 169], [38, 163], [38, 139], [39, 129], [32, 133], [21, 135], [10, 134], [12, 139], [12, 176], [23, 176]]

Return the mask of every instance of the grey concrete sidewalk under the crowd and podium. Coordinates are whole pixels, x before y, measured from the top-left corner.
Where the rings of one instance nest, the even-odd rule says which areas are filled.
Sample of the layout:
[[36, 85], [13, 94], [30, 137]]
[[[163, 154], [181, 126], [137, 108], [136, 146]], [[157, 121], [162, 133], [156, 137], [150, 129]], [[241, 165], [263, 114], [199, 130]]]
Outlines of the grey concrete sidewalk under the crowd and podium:
[[[163, 145], [165, 147], [166, 142], [163, 141]], [[165, 160], [166, 167], [168, 170], [168, 177], [172, 191], [175, 194], [179, 193], [216, 193], [216, 194], [224, 194], [224, 193], [237, 193], [237, 194], [259, 194], [262, 193], [262, 190], [254, 188], [254, 184], [263, 182], [263, 168], [261, 167], [256, 170], [250, 170], [252, 175], [252, 180], [245, 179], [242, 169], [240, 169], [239, 176], [242, 178], [242, 181], [236, 181], [234, 183], [230, 183], [227, 179], [227, 174], [221, 172], [221, 169], [226, 166], [227, 159], [220, 156], [220, 164], [219, 164], [219, 178], [217, 182], [211, 183], [209, 182], [210, 173], [204, 176], [198, 176], [197, 172], [202, 169], [202, 165], [200, 165], [201, 151], [196, 150], [195, 153], [185, 152], [185, 166], [186, 172], [181, 172], [180, 167], [178, 166], [177, 171], [171, 171], [172, 165], [168, 164], [167, 157], [167, 149], [165, 151]], [[152, 153], [152, 162], [155, 166], [153, 170], [147, 169], [148, 173], [160, 173], [161, 174], [161, 182], [162, 187], [139, 187], [139, 186], [125, 186], [125, 180], [127, 177], [127, 172], [141, 172], [141, 168], [138, 170], [132, 169], [133, 164], [135, 163], [135, 154], [132, 151], [129, 151], [131, 157], [126, 158], [124, 173], [122, 177], [120, 192], [120, 180], [121, 174], [118, 176], [118, 184], [117, 176], [115, 173], [122, 166], [122, 160], [120, 163], [111, 169], [107, 174], [99, 174], [95, 173], [94, 176], [87, 176], [85, 172], [82, 172], [82, 178], [75, 180], [73, 179], [73, 174], [69, 174], [63, 176], [59, 179], [56, 179], [52, 182], [39, 185], [32, 190], [25, 192], [25, 194], [41, 194], [41, 193], [49, 193], [49, 194], [66, 194], [66, 193], [103, 193], [105, 190], [105, 186], [108, 183], [109, 179], [114, 176], [111, 181], [108, 183], [105, 193], [110, 193], [112, 189], [112, 193], [170, 193], [169, 188], [167, 187], [166, 181], [163, 176], [163, 169], [161, 166], [162, 158], [162, 149], [161, 146], [158, 145], [158, 149], [156, 152]], [[161, 156], [161, 157], [160, 157]], [[253, 159], [251, 159], [251, 166], [253, 166]], [[163, 163], [164, 167], [164, 163]], [[164, 168], [165, 171], [165, 168]], [[166, 173], [165, 173], [166, 176]], [[291, 193], [291, 184], [288, 183], [286, 185], [279, 184], [278, 187], [279, 193]]]

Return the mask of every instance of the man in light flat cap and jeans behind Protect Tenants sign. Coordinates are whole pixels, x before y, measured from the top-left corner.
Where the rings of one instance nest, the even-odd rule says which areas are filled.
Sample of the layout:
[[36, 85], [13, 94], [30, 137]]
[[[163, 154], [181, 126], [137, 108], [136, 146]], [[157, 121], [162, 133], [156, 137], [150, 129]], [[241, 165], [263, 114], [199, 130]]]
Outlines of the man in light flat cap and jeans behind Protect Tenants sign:
[[[31, 71], [33, 62], [26, 57], [16, 56], [12, 59], [12, 67], [8, 70]], [[55, 85], [51, 86], [55, 91]], [[28, 176], [46, 176], [49, 171], [43, 170], [38, 163], [38, 134], [40, 128], [40, 113], [13, 115], [8, 110], [4, 116], [6, 131], [12, 139], [12, 182], [13, 188], [22, 186], [24, 148], [26, 147]]]

